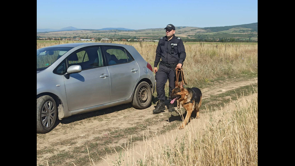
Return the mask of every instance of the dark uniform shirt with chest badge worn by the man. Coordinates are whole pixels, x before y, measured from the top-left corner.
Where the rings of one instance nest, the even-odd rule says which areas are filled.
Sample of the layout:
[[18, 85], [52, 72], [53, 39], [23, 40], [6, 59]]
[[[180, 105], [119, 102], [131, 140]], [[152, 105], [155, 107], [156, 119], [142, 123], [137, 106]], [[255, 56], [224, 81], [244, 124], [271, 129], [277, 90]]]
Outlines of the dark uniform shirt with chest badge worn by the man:
[[[172, 48], [173, 47], [173, 48]], [[171, 49], [174, 49], [173, 53]], [[175, 35], [168, 41], [167, 36], [161, 37], [156, 50], [154, 67], [157, 67], [160, 59], [166, 64], [182, 64], [186, 53], [182, 40]]]

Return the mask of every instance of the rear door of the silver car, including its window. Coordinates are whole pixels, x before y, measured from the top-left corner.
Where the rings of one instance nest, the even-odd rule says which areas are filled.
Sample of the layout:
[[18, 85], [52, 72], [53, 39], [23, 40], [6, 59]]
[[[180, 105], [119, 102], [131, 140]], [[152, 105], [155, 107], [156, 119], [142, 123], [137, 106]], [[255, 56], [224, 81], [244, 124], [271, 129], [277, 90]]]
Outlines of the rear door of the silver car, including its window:
[[122, 47], [104, 46], [110, 74], [110, 101], [129, 98], [139, 79], [139, 67], [129, 52]]

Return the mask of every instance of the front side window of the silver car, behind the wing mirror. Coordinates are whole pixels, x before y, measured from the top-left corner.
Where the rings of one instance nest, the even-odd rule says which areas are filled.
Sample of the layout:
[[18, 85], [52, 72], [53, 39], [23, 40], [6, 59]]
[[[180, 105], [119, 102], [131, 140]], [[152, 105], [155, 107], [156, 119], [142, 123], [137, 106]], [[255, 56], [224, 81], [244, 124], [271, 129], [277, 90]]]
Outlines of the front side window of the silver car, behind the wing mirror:
[[103, 66], [101, 47], [87, 47], [73, 52], [68, 58], [69, 66], [80, 65], [82, 70]]

